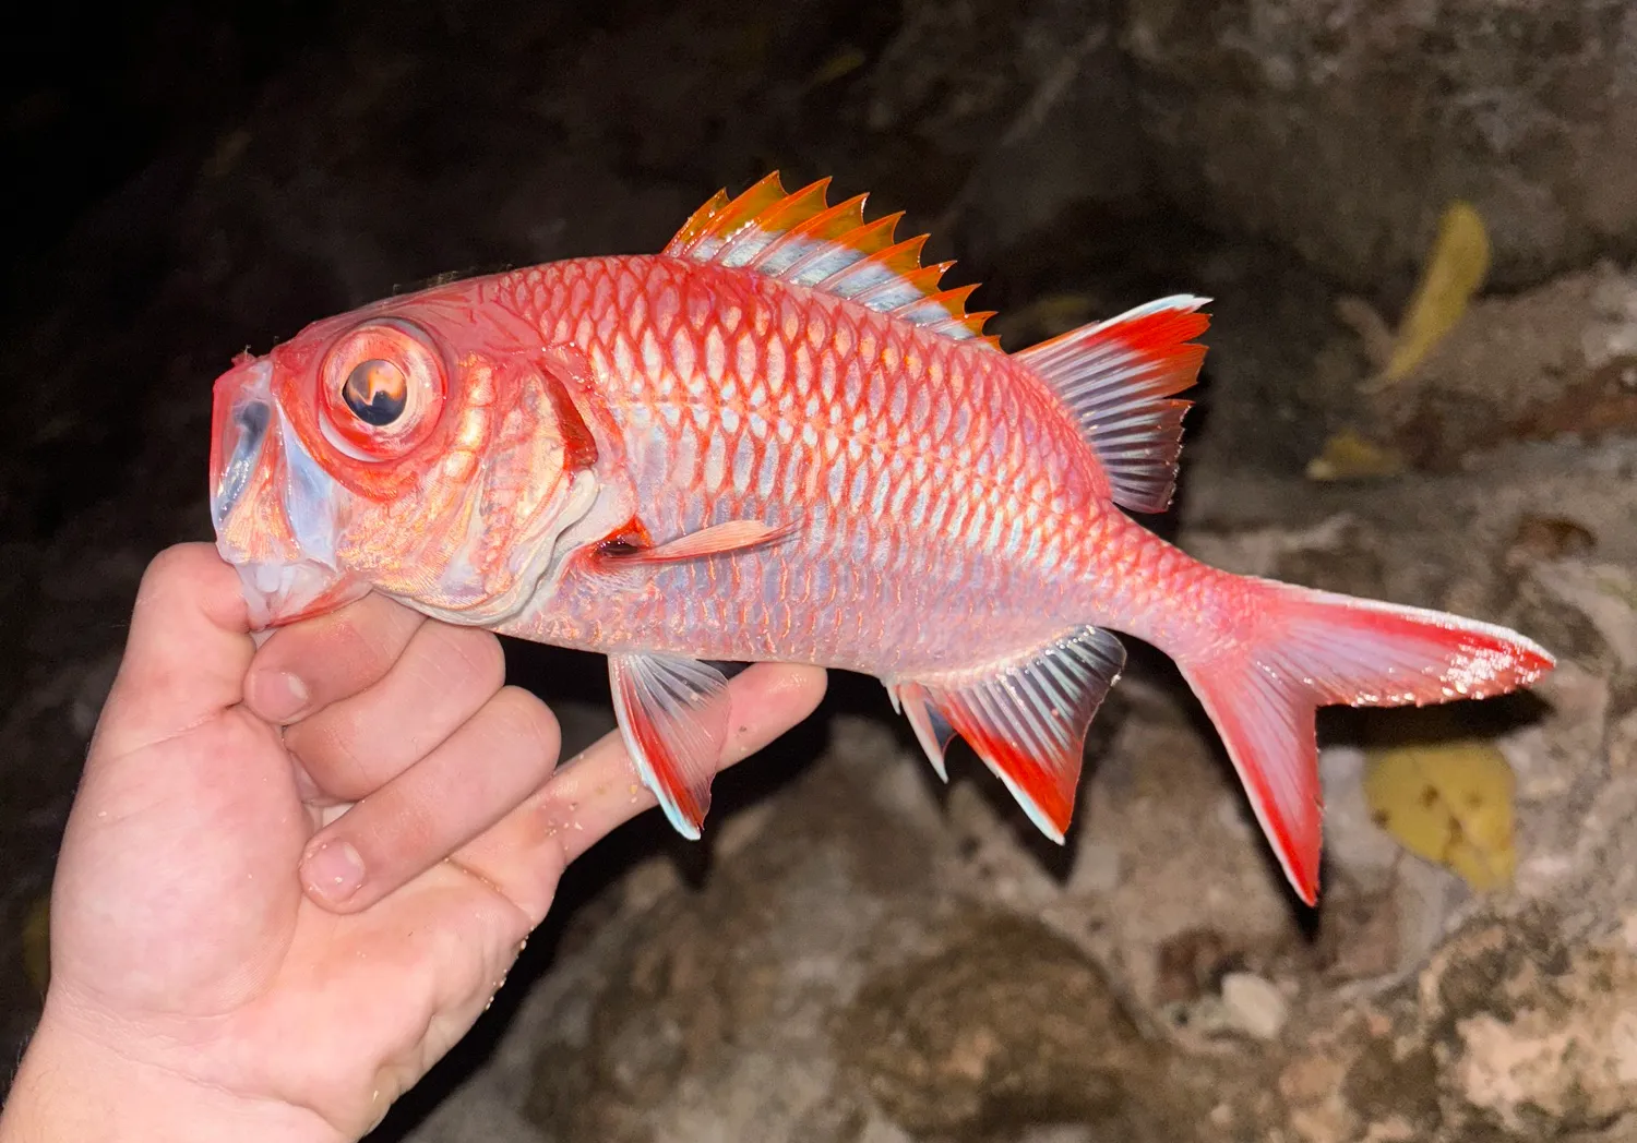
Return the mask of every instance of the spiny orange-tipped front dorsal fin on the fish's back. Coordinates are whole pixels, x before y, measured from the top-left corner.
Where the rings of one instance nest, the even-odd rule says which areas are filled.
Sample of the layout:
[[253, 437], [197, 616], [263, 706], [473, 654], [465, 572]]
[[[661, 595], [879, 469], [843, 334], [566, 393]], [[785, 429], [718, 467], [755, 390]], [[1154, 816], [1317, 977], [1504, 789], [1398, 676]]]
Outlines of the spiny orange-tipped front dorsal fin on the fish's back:
[[999, 348], [1000, 340], [984, 334], [994, 311], [966, 312], [966, 299], [977, 286], [940, 289], [938, 280], [954, 263], [923, 267], [925, 234], [902, 242], [892, 237], [902, 211], [866, 222], [868, 195], [830, 206], [828, 186], [830, 180], [820, 178], [787, 193], [773, 172], [738, 198], [719, 190], [683, 224], [665, 253], [743, 267], [850, 298], [943, 337]]

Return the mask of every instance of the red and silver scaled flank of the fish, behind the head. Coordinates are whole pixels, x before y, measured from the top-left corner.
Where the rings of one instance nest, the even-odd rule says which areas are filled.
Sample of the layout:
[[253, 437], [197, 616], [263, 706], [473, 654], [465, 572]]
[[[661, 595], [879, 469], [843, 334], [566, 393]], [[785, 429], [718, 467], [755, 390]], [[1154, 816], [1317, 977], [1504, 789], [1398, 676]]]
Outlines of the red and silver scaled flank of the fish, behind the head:
[[699, 657], [912, 677], [1113, 618], [1121, 577], [1162, 571], [1134, 566], [1152, 538], [1125, 535], [1076, 428], [1003, 353], [663, 257], [525, 270], [506, 291], [589, 358], [655, 541], [797, 527], [730, 558], [570, 574], [517, 633], [619, 651], [658, 625]]

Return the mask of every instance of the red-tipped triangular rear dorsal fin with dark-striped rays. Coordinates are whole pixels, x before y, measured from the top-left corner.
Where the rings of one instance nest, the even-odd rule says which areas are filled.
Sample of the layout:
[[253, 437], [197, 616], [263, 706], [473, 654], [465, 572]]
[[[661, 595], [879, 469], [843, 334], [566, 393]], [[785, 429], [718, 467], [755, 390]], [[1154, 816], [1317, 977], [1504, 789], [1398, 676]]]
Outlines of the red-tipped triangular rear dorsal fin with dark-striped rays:
[[1197, 312], [1208, 301], [1161, 298], [1017, 355], [1069, 404], [1120, 507], [1170, 507], [1182, 415], [1193, 404], [1174, 394], [1198, 379], [1205, 347], [1190, 338], [1210, 325], [1210, 317]]

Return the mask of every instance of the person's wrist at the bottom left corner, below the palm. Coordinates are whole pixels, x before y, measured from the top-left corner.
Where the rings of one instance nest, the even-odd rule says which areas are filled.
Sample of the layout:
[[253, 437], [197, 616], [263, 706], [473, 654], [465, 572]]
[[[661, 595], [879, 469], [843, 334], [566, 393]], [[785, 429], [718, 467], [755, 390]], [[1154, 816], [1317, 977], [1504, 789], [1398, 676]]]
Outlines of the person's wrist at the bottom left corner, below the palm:
[[0, 1143], [347, 1143], [316, 1112], [121, 1055], [47, 1017], [0, 1109]]

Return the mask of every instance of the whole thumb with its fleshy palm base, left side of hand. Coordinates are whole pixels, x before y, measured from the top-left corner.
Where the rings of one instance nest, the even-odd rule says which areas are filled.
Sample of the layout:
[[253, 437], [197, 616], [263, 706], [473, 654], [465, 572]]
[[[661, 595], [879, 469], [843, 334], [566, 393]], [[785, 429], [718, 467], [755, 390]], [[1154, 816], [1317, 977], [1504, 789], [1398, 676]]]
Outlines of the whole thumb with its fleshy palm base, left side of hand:
[[308, 834], [277, 731], [239, 708], [254, 654], [210, 545], [159, 554], [69, 814], [52, 989], [115, 1012], [221, 1012], [283, 955]]

